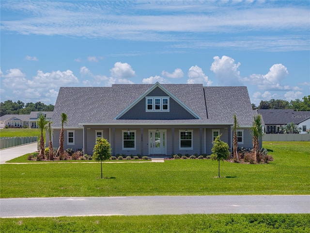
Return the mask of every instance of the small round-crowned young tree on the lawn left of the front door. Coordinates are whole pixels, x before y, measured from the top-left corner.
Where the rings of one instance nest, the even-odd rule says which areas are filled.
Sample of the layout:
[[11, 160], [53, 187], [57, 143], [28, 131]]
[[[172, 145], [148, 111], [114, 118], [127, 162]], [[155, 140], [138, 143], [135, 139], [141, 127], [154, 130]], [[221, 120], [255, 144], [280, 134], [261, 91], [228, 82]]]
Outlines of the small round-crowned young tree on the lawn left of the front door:
[[101, 179], [102, 179], [102, 160], [107, 160], [111, 156], [111, 145], [105, 138], [98, 137], [93, 148], [93, 159], [101, 162]]

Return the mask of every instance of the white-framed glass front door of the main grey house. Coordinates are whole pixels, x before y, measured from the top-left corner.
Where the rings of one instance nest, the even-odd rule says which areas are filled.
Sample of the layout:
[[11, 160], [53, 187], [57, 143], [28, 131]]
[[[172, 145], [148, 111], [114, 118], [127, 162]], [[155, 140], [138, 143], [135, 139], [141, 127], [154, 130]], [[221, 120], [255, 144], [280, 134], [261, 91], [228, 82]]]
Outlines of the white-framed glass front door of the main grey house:
[[166, 130], [149, 131], [149, 155], [166, 155]]

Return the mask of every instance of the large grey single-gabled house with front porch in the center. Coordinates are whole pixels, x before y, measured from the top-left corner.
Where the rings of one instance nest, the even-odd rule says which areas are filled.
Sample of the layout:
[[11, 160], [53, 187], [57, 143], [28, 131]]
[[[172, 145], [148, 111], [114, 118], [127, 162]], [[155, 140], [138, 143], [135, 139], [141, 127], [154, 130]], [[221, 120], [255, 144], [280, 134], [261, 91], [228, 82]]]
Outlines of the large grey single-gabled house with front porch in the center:
[[61, 87], [52, 116], [54, 147], [59, 147], [62, 113], [68, 116], [64, 148], [83, 149], [89, 155], [97, 137], [109, 141], [113, 155], [211, 154], [219, 134], [232, 147], [233, 114], [240, 125], [239, 146], [252, 147], [250, 126], [255, 112], [245, 86]]

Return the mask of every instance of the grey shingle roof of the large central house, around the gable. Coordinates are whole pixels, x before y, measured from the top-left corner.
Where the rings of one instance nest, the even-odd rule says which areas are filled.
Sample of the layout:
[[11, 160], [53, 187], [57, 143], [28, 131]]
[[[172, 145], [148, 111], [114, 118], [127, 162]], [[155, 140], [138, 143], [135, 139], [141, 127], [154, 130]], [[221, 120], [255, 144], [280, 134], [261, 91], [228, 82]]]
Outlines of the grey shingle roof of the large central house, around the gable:
[[246, 87], [203, 87], [202, 84], [162, 84], [172, 95], [200, 116], [200, 119], [114, 119], [153, 85], [114, 84], [111, 87], [61, 87], [52, 116], [53, 125], [61, 127], [62, 113], [68, 116], [66, 127], [78, 127], [79, 123], [224, 124], [233, 122], [234, 113], [237, 115], [240, 126], [249, 126], [252, 122], [253, 111]]

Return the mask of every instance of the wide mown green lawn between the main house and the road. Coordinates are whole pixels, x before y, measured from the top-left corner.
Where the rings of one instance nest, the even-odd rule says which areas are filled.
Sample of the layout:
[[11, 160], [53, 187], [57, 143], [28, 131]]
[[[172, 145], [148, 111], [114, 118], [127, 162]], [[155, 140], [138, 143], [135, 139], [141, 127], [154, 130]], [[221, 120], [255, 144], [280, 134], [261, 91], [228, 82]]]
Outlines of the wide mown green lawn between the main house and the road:
[[153, 195], [309, 195], [310, 142], [264, 143], [270, 164], [213, 160], [165, 163], [0, 165], [1, 198]]

